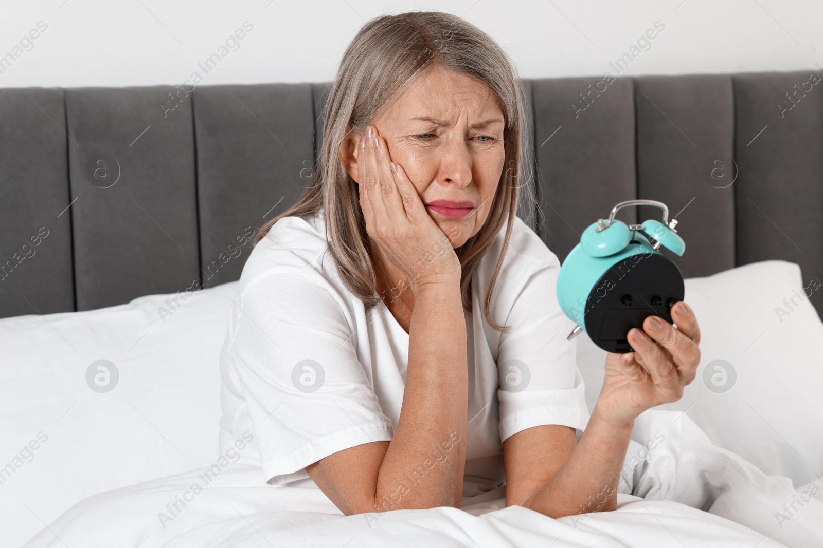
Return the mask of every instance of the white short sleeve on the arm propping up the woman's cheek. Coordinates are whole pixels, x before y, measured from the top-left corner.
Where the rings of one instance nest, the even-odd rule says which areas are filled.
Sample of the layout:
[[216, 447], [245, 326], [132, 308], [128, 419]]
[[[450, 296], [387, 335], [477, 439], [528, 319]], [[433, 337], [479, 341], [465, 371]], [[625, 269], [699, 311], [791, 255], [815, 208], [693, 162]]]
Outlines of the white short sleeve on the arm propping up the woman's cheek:
[[340, 302], [299, 274], [272, 274], [239, 297], [230, 375], [243, 391], [272, 485], [356, 445], [391, 440]]

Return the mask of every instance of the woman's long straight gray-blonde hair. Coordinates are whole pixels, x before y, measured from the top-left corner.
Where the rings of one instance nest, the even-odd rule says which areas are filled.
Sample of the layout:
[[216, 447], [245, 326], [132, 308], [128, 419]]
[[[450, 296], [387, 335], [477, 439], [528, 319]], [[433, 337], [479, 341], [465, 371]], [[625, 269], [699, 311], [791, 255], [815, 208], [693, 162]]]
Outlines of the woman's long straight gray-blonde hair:
[[[531, 136], [523, 86], [508, 55], [491, 36], [464, 19], [443, 12], [407, 12], [368, 21], [351, 40], [340, 62], [328, 97], [323, 122], [323, 147], [312, 180], [300, 199], [260, 228], [257, 243], [283, 217], [309, 219], [323, 210], [328, 249], [346, 288], [366, 311], [377, 306], [374, 243], [365, 229], [359, 189], [346, 172], [339, 151], [349, 134], [365, 127], [429, 67], [462, 72], [488, 85], [504, 114], [504, 169], [480, 230], [454, 251], [462, 265], [463, 308], [472, 311], [472, 272], [506, 225], [504, 243], [484, 303], [486, 321], [498, 325], [489, 312], [491, 294], [509, 248], [518, 208], [532, 230], [537, 203], [532, 185]], [[523, 197], [520, 191], [523, 189]], [[506, 221], [509, 220], [509, 223]]]

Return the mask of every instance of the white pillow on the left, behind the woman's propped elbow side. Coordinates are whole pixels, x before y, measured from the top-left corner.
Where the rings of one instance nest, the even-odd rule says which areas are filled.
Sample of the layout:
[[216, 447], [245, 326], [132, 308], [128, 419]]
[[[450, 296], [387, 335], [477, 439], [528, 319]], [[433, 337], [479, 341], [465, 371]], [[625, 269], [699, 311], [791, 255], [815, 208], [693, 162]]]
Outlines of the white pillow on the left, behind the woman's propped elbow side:
[[[218, 361], [236, 284], [176, 303], [150, 295], [0, 320], [0, 515], [16, 524], [2, 533], [7, 546], [87, 496], [215, 462]], [[106, 393], [86, 383], [101, 359], [119, 371]]]

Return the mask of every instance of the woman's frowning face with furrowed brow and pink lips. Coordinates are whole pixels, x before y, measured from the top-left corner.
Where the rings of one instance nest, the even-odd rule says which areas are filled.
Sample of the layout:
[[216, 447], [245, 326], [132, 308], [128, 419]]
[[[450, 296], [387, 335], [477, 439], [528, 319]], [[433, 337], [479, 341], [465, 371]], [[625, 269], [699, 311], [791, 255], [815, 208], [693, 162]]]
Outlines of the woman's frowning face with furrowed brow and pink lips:
[[[435, 66], [371, 125], [386, 140], [393, 162], [406, 170], [431, 219], [453, 247], [462, 246], [486, 222], [503, 172], [504, 117], [495, 93], [471, 76]], [[437, 200], [472, 209], [438, 208]]]

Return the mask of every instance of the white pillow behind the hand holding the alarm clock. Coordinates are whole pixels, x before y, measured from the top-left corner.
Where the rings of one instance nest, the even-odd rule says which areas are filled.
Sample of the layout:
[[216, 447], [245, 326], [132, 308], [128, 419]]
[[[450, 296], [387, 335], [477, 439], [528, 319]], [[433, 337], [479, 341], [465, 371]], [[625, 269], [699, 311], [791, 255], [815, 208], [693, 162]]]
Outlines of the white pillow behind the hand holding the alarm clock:
[[[823, 291], [816, 281], [804, 283], [800, 267], [783, 260], [686, 279], [684, 301], [700, 323], [700, 366], [683, 398], [660, 406], [688, 409], [714, 444], [767, 474], [791, 478], [795, 486], [823, 472], [823, 323], [804, 288], [807, 294]], [[577, 341], [591, 409], [606, 352], [585, 333]]]

